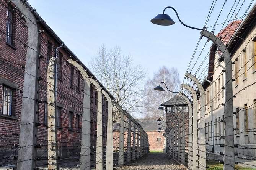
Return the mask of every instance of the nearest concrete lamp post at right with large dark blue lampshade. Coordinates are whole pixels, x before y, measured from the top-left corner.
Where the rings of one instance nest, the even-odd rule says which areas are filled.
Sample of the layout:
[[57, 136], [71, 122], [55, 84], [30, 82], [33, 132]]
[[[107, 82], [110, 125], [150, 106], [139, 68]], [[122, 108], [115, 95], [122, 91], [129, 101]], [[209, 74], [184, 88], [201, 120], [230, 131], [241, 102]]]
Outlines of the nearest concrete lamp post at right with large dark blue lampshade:
[[[151, 22], [153, 24], [162, 25], [162, 26], [169, 26], [169, 25], [175, 24], [173, 19], [171, 19], [170, 16], [168, 16], [167, 14], [165, 14], [165, 10], [167, 8], [173, 9], [179, 19], [177, 11], [173, 7], [168, 6], [163, 10], [163, 14], [158, 14], [155, 18], [151, 19]], [[220, 49], [220, 51], [223, 54], [222, 57], [225, 62], [225, 73], [226, 73], [225, 74], [226, 98], [224, 103], [225, 105], [225, 139], [224, 139], [223, 169], [233, 170], [235, 167], [235, 159], [233, 158], [233, 155], [234, 155], [233, 90], [232, 90], [233, 87], [232, 87], [232, 62], [231, 62], [230, 53], [227, 47], [225, 46], [225, 44], [220, 40], [220, 38], [216, 37], [211, 32], [205, 30], [206, 29], [205, 27], [203, 29], [191, 27], [184, 24], [180, 19], [179, 19], [179, 22], [181, 22], [181, 24], [183, 24], [188, 28], [201, 30], [200, 32], [201, 36], [204, 36], [212, 40], [212, 42], [214, 42], [217, 45], [217, 47]]]

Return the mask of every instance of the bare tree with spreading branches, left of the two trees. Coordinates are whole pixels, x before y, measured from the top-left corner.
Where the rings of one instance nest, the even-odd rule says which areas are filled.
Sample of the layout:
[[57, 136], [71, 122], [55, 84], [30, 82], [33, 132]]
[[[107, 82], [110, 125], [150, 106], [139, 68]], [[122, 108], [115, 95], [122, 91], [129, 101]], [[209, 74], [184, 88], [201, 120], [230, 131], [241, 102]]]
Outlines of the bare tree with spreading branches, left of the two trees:
[[109, 50], [101, 45], [90, 63], [91, 71], [116, 98], [126, 111], [138, 112], [141, 109], [143, 88], [147, 72], [142, 66], [134, 66], [130, 54], [123, 54], [120, 47]]

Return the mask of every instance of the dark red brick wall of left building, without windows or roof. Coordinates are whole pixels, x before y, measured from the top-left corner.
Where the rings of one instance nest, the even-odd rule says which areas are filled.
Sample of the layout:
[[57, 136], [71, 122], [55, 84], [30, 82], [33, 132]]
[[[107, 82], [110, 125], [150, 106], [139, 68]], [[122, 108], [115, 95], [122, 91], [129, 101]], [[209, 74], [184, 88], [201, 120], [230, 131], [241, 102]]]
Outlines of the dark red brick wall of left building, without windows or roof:
[[[26, 63], [26, 50], [27, 47], [24, 44], [27, 44], [28, 41], [28, 29], [23, 27], [23, 24], [26, 24], [24, 19], [21, 19], [22, 15], [19, 10], [15, 11], [15, 48], [7, 45], [6, 42], [6, 20], [7, 20], [7, 1], [0, 0], [0, 78], [9, 80], [10, 82], [16, 83], [18, 88], [13, 91], [13, 116], [3, 116], [0, 114], [0, 135], [3, 138], [0, 138], [1, 147], [4, 146], [7, 151], [15, 149], [13, 143], [18, 143], [18, 134], [20, 128], [20, 117], [21, 117], [21, 105], [22, 105], [22, 96], [23, 93], [20, 93], [20, 90], [23, 90], [24, 83], [24, 69], [22, 65], [25, 66]], [[43, 59], [40, 59], [40, 69], [39, 77], [42, 77], [43, 80], [39, 81], [39, 98], [47, 99], [47, 44], [48, 42], [52, 43], [52, 55], [55, 55], [55, 49], [60, 45], [57, 40], [52, 37], [52, 34], [38, 23], [39, 30], [44, 30], [43, 34], [40, 34], [41, 38], [41, 54], [44, 56]], [[62, 57], [62, 79], [58, 79], [57, 82], [57, 102], [61, 108], [61, 125], [57, 129], [57, 141], [59, 145], [59, 156], [60, 157], [73, 157], [77, 156], [77, 152], [80, 152], [78, 146], [81, 142], [81, 130], [77, 130], [77, 120], [76, 115], [82, 115], [83, 113], [83, 96], [84, 83], [81, 80], [80, 92], [78, 92], [78, 76], [79, 71], [74, 68], [74, 78], [73, 78], [73, 87], [70, 87], [70, 71], [71, 64], [68, 64], [67, 59], [70, 58], [70, 53], [65, 50], [63, 47], [59, 48], [59, 51], [63, 54]], [[72, 59], [74, 59], [71, 56]], [[0, 84], [0, 94], [2, 94], [3, 86]], [[90, 95], [90, 94], [86, 94]], [[93, 88], [93, 96], [95, 96], [95, 88]], [[104, 122], [103, 125], [107, 125], [107, 113], [106, 113], [106, 100], [105, 100], [105, 109], [104, 109]], [[2, 96], [0, 97], [0, 111], [2, 107]], [[68, 128], [69, 121], [69, 111], [73, 112], [72, 129]], [[91, 122], [97, 121], [97, 106], [95, 100], [91, 102]], [[39, 112], [38, 112], [38, 122], [42, 125], [38, 127], [38, 143], [43, 144], [41, 150], [45, 153], [47, 148], [47, 126], [44, 125], [44, 103], [39, 103]], [[80, 128], [82, 127], [82, 116], [80, 117], [79, 122]], [[106, 128], [106, 127], [105, 127]], [[91, 134], [91, 152], [96, 151], [96, 131]], [[106, 135], [103, 136], [103, 146], [106, 146]], [[10, 149], [10, 150], [8, 150]], [[1, 148], [3, 151], [4, 149]], [[16, 149], [17, 150], [17, 149]], [[40, 152], [40, 151], [39, 151]], [[0, 153], [0, 156], [3, 153]], [[0, 157], [1, 158], [1, 157]], [[96, 160], [94, 160], [96, 161]]]

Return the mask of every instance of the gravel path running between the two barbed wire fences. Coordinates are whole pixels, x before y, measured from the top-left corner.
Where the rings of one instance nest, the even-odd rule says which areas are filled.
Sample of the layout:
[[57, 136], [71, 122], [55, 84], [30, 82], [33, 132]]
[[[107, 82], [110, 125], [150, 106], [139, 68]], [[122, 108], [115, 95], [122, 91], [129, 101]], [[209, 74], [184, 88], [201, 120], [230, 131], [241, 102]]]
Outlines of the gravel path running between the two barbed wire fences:
[[186, 170], [183, 165], [179, 165], [175, 160], [165, 153], [148, 153], [116, 170]]

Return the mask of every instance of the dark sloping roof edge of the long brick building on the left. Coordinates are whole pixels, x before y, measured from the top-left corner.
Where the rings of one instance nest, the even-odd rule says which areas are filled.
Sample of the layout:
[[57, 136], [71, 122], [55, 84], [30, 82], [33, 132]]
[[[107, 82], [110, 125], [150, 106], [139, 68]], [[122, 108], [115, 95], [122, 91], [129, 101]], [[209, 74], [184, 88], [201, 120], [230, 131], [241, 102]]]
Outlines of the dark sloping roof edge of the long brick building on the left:
[[[28, 9], [30, 11], [34, 11], [34, 8], [26, 1], [24, 3]], [[52, 37], [55, 38], [55, 40], [57, 42], [59, 42], [60, 44], [63, 44], [63, 47], [73, 58], [75, 58], [75, 60], [77, 60], [78, 63], [81, 64], [81, 66], [86, 70], [86, 72], [88, 73], [88, 75], [90, 75], [93, 79], [98, 80], [95, 75], [93, 75], [93, 73], [82, 63], [82, 61], [80, 61], [80, 59], [65, 45], [65, 43], [60, 39], [60, 37], [55, 34], [55, 32], [46, 24], [46, 22], [41, 18], [41, 16], [39, 16], [38, 13], [36, 13], [36, 11], [33, 12], [35, 18], [39, 21], [39, 23], [45, 27], [47, 29], [47, 31], [49, 31], [49, 33], [52, 35]], [[115, 99], [108, 90], [106, 90], [106, 88], [98, 81], [99, 85], [103, 88], [104, 91], [106, 91], [108, 93], [108, 95], [110, 96], [111, 99]]]

